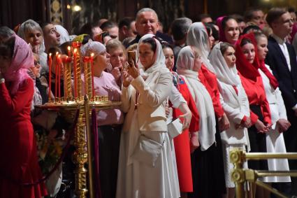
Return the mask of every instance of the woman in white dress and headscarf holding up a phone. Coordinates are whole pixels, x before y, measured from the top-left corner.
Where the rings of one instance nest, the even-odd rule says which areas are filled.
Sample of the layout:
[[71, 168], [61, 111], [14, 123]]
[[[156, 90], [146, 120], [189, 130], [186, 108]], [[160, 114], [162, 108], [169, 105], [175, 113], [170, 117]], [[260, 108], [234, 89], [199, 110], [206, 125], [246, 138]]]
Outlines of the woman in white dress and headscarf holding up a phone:
[[173, 87], [161, 43], [147, 34], [136, 52], [140, 76], [132, 64], [124, 71], [122, 131], [117, 197], [180, 197], [175, 157], [167, 133], [165, 105]]

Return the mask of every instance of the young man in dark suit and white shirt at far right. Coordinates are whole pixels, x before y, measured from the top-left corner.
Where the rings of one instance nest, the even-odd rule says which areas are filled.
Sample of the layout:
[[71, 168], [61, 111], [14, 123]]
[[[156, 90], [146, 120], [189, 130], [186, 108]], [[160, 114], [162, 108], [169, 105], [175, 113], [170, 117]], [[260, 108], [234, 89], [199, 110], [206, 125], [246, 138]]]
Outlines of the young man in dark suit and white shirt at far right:
[[[273, 75], [280, 84], [280, 90], [287, 110], [291, 127], [284, 132], [287, 152], [297, 152], [297, 62], [293, 46], [286, 43], [286, 37], [291, 33], [293, 20], [284, 8], [269, 10], [266, 20], [273, 29], [268, 38], [268, 55], [266, 64], [270, 66]], [[296, 160], [289, 160], [290, 169], [297, 169]], [[297, 195], [296, 178], [292, 177], [291, 193]]]

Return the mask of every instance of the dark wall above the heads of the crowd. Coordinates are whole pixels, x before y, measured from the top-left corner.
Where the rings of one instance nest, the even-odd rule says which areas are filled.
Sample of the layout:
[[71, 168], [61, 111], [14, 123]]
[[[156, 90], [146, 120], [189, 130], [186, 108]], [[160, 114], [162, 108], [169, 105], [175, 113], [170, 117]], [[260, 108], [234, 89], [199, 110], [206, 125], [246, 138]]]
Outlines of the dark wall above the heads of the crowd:
[[[68, 5], [68, 8], [67, 8]], [[73, 6], [82, 10], [74, 12]], [[159, 20], [168, 27], [176, 17], [187, 16], [196, 21], [201, 13], [215, 19], [231, 13], [243, 14], [252, 6], [267, 11], [273, 6], [293, 6], [296, 0], [1, 0], [0, 25], [10, 28], [31, 18], [36, 21], [61, 23], [71, 34], [86, 22], [100, 18], [118, 21], [124, 16], [134, 17], [137, 10], [150, 7], [156, 10]]]

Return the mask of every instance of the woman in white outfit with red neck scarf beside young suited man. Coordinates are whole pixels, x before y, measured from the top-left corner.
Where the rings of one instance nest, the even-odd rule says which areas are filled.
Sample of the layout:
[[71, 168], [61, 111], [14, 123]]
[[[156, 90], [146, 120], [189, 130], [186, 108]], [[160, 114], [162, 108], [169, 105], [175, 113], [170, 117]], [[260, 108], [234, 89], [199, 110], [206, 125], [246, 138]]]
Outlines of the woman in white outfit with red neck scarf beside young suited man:
[[[263, 79], [263, 85], [266, 93], [266, 98], [269, 103], [271, 122], [273, 123], [270, 131], [266, 133], [266, 147], [268, 153], [287, 153], [284, 144], [284, 136], [282, 132], [287, 131], [291, 126], [287, 120], [287, 111], [282, 99], [282, 93], [278, 87], [277, 79], [273, 76], [268, 65], [264, 63], [268, 48], [268, 40], [265, 34], [254, 33], [254, 45], [257, 49], [257, 54], [261, 66], [258, 69]], [[270, 159], [268, 160], [268, 169], [270, 171], [289, 171], [287, 159]], [[289, 176], [270, 176], [263, 178], [266, 183], [288, 183], [291, 182]]]

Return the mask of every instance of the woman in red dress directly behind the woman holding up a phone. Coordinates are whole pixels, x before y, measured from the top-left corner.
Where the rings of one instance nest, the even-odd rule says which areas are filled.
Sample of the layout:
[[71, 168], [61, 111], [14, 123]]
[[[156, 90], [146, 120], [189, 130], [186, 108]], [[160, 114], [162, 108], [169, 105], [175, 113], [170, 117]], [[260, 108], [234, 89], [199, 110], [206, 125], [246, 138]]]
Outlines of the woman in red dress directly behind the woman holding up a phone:
[[[187, 101], [187, 105], [191, 110], [191, 123], [189, 128], [184, 129], [182, 134], [176, 136], [174, 141], [176, 164], [178, 167], [178, 180], [180, 183], [181, 196], [184, 196], [183, 192], [193, 192], [193, 182], [191, 175], [191, 155], [190, 150], [193, 152], [198, 146], [198, 130], [199, 130], [199, 115], [196, 108], [194, 99], [191, 97], [191, 93], [184, 83], [184, 79], [178, 75], [178, 73], [172, 71], [174, 65], [174, 55], [171, 45], [162, 43], [163, 52], [165, 55], [165, 64], [167, 68], [173, 73], [173, 85], [180, 91], [182, 97]], [[183, 115], [179, 108], [173, 108], [173, 119]], [[182, 118], [180, 118], [182, 121]], [[190, 138], [191, 136], [191, 138]]]

